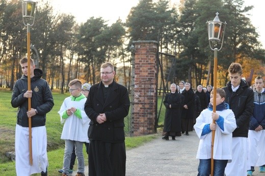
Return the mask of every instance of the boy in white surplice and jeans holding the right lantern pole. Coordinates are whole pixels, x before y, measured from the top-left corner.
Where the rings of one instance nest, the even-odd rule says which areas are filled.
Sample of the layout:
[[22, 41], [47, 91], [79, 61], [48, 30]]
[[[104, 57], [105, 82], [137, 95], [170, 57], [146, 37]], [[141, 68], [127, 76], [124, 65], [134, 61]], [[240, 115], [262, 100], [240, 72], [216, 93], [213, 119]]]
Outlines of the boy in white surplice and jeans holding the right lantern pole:
[[[232, 159], [232, 132], [236, 128], [234, 113], [229, 109], [225, 100], [225, 91], [217, 89], [216, 112], [213, 112], [214, 92], [210, 93], [210, 103], [196, 119], [194, 129], [200, 138], [197, 151], [197, 159], [200, 159], [198, 167], [199, 175], [210, 175], [211, 167], [211, 139], [215, 130], [214, 142], [214, 175], [223, 176], [226, 164]], [[213, 123], [213, 120], [216, 123]]]

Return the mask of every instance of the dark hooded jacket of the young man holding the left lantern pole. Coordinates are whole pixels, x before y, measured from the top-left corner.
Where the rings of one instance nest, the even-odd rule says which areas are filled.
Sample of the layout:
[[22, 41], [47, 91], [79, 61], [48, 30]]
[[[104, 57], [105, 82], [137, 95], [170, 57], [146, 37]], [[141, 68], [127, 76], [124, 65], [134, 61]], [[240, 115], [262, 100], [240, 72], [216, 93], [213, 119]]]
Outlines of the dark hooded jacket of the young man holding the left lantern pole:
[[[54, 106], [49, 85], [42, 79], [43, 72], [40, 69], [34, 69], [34, 77], [31, 78], [31, 107], [37, 109], [38, 113], [32, 116], [32, 127], [44, 126], [46, 123], [46, 113]], [[22, 127], [29, 127], [29, 118], [26, 115], [28, 111], [28, 98], [24, 98], [24, 93], [28, 91], [28, 77], [24, 74], [18, 79], [13, 87], [12, 107], [18, 107], [17, 124]]]

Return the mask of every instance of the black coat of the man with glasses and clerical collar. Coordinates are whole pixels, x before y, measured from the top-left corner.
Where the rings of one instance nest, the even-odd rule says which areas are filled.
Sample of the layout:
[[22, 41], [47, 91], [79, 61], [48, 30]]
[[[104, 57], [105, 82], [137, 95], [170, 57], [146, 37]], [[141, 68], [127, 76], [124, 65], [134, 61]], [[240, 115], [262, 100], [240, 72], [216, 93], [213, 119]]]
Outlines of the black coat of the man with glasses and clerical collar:
[[[128, 91], [126, 87], [114, 81], [109, 86], [109, 96], [104, 102], [102, 86], [102, 81], [92, 85], [85, 103], [85, 112], [91, 120], [88, 129], [89, 140], [122, 142], [125, 140], [124, 118], [130, 106]], [[106, 122], [96, 122], [99, 113], [105, 113]]]

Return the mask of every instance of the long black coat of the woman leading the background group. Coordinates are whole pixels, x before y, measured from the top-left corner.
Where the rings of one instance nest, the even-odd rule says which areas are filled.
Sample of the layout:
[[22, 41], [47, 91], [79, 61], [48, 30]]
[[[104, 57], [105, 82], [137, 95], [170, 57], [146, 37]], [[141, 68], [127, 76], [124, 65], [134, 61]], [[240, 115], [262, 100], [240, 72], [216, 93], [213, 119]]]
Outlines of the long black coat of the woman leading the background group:
[[[163, 131], [180, 132], [181, 131], [181, 110], [184, 97], [179, 93], [169, 93], [163, 101], [166, 106], [166, 114]], [[171, 108], [169, 107], [171, 105]]]

